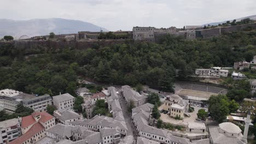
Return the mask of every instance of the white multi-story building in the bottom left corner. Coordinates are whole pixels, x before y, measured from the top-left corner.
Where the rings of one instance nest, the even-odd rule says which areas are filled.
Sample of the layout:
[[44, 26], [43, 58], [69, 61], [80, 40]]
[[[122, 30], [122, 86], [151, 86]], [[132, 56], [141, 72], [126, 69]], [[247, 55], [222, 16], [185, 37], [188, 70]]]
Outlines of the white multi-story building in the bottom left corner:
[[0, 122], [0, 143], [6, 144], [17, 139], [21, 135], [18, 118]]

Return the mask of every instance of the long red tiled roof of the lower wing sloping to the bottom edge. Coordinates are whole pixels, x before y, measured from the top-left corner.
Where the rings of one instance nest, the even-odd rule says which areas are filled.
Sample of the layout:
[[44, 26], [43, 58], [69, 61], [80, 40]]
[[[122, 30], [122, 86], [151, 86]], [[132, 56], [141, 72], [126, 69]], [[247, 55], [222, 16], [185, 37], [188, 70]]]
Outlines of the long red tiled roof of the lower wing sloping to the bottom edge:
[[37, 122], [30, 128], [30, 130], [27, 131], [27, 133], [9, 142], [9, 144], [22, 144], [23, 142], [31, 139], [34, 135], [40, 133], [40, 131], [43, 131], [43, 130], [44, 130], [43, 125]]

